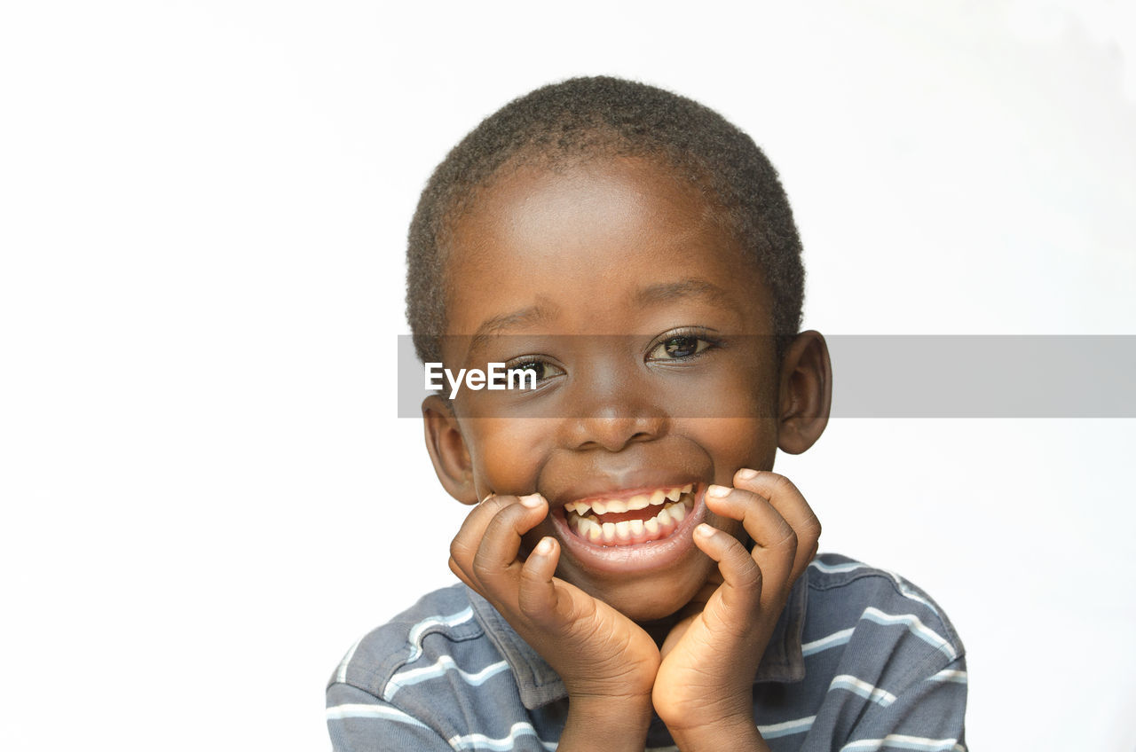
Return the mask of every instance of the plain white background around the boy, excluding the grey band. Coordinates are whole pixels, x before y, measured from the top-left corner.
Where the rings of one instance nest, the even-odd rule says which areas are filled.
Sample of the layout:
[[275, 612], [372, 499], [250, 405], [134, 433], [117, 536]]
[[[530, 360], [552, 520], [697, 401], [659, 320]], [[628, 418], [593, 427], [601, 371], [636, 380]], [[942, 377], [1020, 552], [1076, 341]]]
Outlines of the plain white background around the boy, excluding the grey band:
[[[327, 749], [327, 677], [465, 512], [394, 417], [406, 227], [540, 84], [750, 132], [808, 326], [1134, 333], [1130, 14], [784, 5], [6, 3], [0, 747]], [[778, 469], [952, 616], [976, 750], [1133, 750], [1134, 434], [837, 419]]]

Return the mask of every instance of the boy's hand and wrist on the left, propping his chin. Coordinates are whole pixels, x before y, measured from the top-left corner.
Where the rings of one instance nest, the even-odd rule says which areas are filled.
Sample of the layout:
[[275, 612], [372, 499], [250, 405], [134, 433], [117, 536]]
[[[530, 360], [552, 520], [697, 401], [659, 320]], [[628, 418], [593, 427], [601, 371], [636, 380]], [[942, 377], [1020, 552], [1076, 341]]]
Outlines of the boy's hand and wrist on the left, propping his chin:
[[[569, 696], [565, 736], [579, 730], [588, 715], [623, 715], [621, 728], [642, 726], [642, 736], [628, 747], [637, 744], [642, 750], [659, 650], [630, 619], [553, 576], [560, 560], [556, 538], [542, 538], [526, 561], [518, 559], [521, 536], [546, 513], [548, 502], [540, 494], [490, 496], [469, 513], [450, 544], [450, 569], [560, 675]], [[628, 724], [632, 713], [642, 722]], [[604, 735], [612, 741], [609, 730]]]

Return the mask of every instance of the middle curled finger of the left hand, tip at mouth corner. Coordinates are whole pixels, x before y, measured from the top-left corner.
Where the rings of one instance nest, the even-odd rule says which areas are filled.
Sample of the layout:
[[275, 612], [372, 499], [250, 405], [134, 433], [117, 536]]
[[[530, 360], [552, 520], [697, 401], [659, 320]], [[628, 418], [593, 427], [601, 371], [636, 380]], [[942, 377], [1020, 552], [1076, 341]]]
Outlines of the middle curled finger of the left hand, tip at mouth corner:
[[540, 494], [521, 496], [518, 501], [490, 520], [473, 562], [474, 579], [487, 592], [511, 604], [517, 601], [521, 568], [517, 554], [521, 536], [536, 527], [548, 511], [548, 503]]

